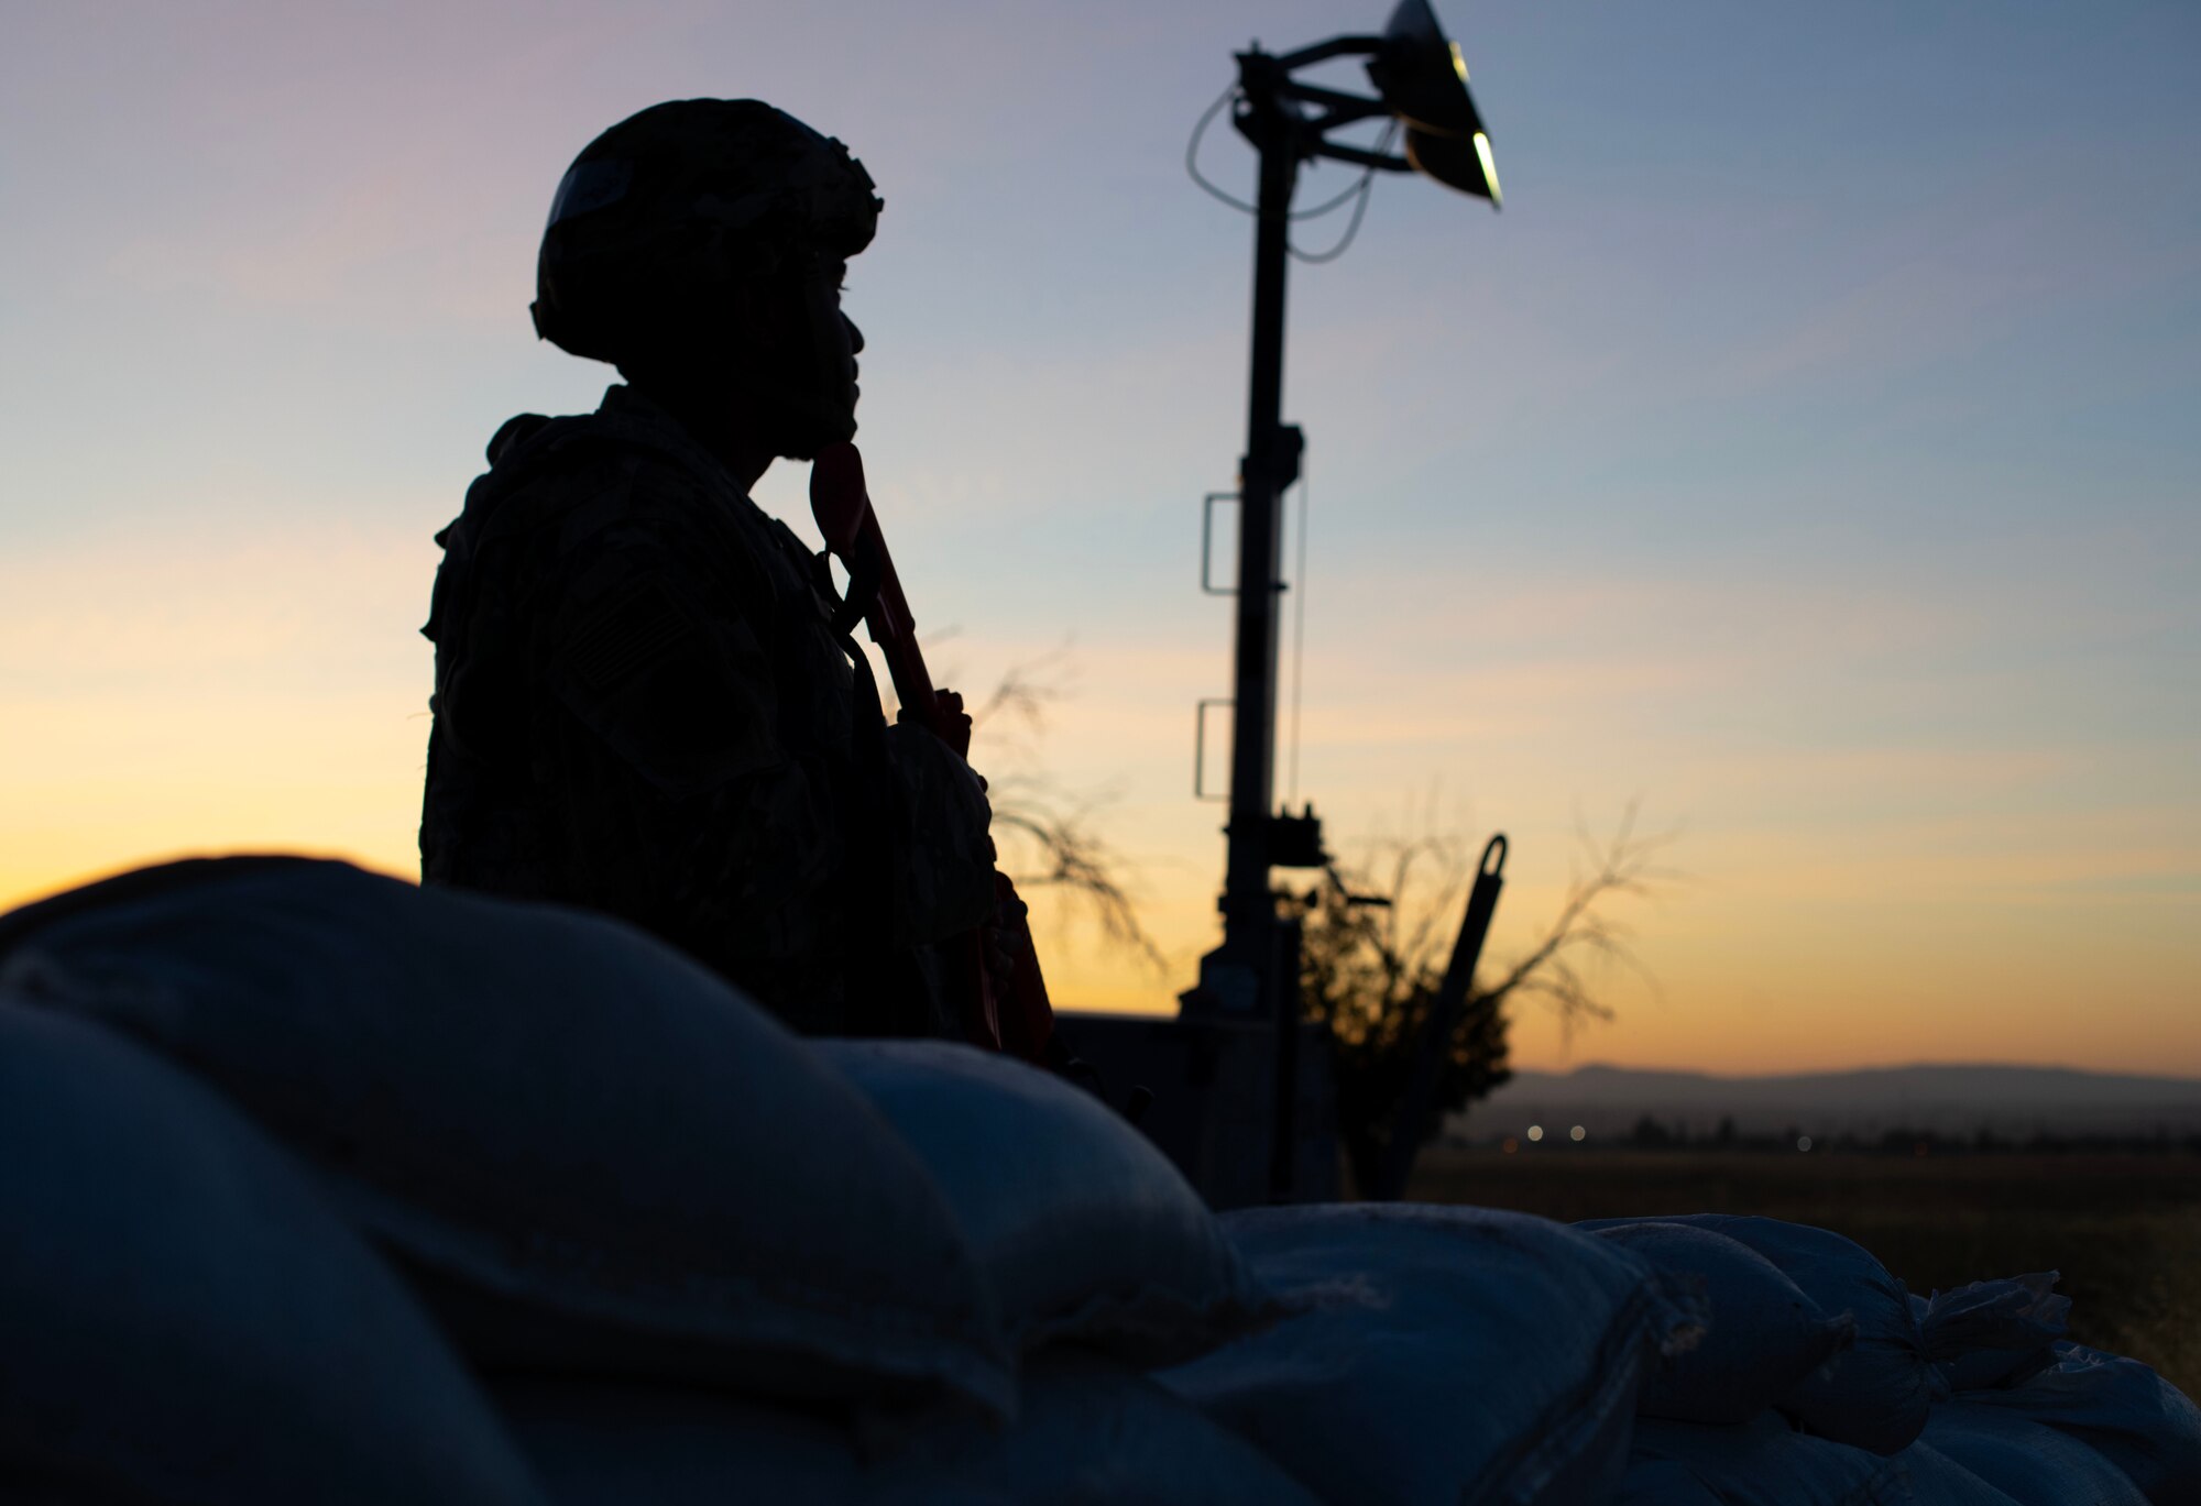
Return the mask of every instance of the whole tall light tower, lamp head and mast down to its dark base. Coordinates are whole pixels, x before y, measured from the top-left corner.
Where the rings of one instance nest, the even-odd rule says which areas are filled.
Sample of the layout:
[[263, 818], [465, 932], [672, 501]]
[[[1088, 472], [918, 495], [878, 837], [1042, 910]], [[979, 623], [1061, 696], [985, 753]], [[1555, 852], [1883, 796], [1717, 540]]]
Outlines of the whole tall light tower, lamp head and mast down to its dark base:
[[[1371, 97], [1299, 77], [1338, 57], [1367, 59]], [[1263, 53], [1259, 44], [1237, 53], [1237, 84], [1215, 108], [1224, 103], [1259, 156], [1255, 203], [1230, 200], [1255, 216], [1246, 454], [1239, 491], [1213, 493], [1206, 502], [1211, 513], [1217, 500], [1235, 495], [1239, 504], [1235, 583], [1208, 586], [1235, 597], [1233, 694], [1202, 702], [1195, 731], [1197, 762], [1206, 711], [1233, 707], [1230, 786], [1222, 795], [1230, 810], [1219, 901], [1224, 938], [1200, 960], [1200, 982], [1180, 995], [1178, 1019], [1070, 1015], [1065, 1030], [1107, 1081], [1153, 1083], [1147, 1132], [1213, 1202], [1235, 1204], [1321, 1193], [1305, 1185], [1301, 1167], [1312, 1169], [1307, 1176], [1325, 1176], [1321, 1143], [1329, 1141], [1321, 1063], [1301, 1050], [1299, 923], [1279, 916], [1270, 887], [1274, 867], [1329, 863], [1314, 806], [1296, 815], [1279, 810], [1274, 777], [1283, 493], [1299, 480], [1305, 447], [1301, 429], [1283, 423], [1283, 293], [1288, 258], [1296, 253], [1292, 194], [1301, 165], [1332, 159], [1365, 170], [1356, 222], [1378, 172], [1420, 172], [1490, 200], [1492, 209], [1501, 196], [1490, 132], [1468, 95], [1466, 62], [1428, 0], [1400, 0], [1380, 35], [1343, 35], [1292, 53]], [[1387, 126], [1373, 145], [1338, 139], [1378, 119]], [[1393, 152], [1400, 134], [1404, 141]], [[1206, 557], [1202, 572], [1206, 577]], [[1206, 795], [1200, 773], [1195, 793]], [[1303, 1103], [1312, 1112], [1301, 1114]], [[1314, 1145], [1303, 1147], [1303, 1141]]]

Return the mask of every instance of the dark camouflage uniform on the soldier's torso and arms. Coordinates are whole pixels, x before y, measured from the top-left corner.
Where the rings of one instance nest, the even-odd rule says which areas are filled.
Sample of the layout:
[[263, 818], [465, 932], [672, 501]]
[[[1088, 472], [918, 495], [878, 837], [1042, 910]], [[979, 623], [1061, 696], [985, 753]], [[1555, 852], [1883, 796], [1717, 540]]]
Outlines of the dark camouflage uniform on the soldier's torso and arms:
[[953, 1033], [986, 801], [883, 724], [821, 561], [632, 388], [489, 460], [436, 535], [423, 878], [632, 920], [799, 1030]]

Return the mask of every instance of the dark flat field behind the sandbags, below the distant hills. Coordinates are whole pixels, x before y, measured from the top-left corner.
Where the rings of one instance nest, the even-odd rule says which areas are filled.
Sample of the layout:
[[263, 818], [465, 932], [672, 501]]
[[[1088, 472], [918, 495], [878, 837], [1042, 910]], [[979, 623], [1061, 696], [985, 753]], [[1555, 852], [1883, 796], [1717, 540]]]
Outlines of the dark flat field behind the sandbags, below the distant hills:
[[1763, 1213], [1873, 1251], [1910, 1290], [2060, 1270], [2071, 1336], [2201, 1396], [2201, 1158], [1431, 1147], [1411, 1198], [1556, 1220]]

